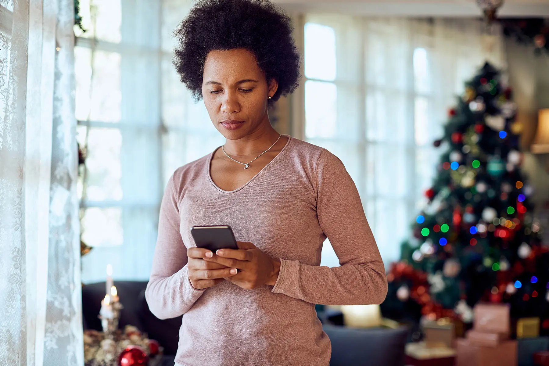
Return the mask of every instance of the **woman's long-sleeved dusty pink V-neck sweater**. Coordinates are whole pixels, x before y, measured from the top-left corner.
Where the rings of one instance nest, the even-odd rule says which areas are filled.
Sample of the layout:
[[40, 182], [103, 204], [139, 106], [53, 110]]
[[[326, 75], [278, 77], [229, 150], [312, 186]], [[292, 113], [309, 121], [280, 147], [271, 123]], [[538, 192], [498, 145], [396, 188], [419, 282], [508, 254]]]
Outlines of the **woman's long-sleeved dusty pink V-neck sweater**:
[[[284, 136], [289, 140], [275, 159], [236, 190], [212, 181], [214, 153], [178, 168], [167, 184], [145, 297], [156, 317], [183, 316], [178, 364], [328, 365], [330, 341], [315, 304], [385, 299], [383, 262], [343, 163]], [[194, 289], [186, 266], [193, 225], [230, 225], [237, 240], [280, 258], [275, 286], [245, 290], [223, 281]], [[320, 267], [327, 237], [340, 267]]]

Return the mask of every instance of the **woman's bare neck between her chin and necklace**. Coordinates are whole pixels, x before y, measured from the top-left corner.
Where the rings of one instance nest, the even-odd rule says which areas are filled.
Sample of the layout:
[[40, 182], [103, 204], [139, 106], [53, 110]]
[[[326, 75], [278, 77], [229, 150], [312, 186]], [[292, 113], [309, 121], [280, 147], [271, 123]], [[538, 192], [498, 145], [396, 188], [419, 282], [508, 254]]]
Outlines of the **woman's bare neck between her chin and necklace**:
[[268, 128], [257, 129], [237, 140], [227, 139], [223, 149], [233, 157], [257, 155], [267, 150], [279, 137], [280, 134], [269, 124]]

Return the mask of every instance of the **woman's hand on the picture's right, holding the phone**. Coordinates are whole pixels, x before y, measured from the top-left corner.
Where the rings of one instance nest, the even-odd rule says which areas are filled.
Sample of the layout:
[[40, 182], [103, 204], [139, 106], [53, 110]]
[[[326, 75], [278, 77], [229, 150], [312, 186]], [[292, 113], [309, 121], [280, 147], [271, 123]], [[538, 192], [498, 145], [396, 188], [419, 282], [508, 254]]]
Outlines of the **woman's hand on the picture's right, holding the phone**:
[[280, 270], [280, 261], [266, 255], [248, 241], [237, 241], [239, 249], [219, 249], [205, 261], [238, 268], [240, 271], [226, 278], [243, 289], [255, 289], [261, 285], [274, 286]]

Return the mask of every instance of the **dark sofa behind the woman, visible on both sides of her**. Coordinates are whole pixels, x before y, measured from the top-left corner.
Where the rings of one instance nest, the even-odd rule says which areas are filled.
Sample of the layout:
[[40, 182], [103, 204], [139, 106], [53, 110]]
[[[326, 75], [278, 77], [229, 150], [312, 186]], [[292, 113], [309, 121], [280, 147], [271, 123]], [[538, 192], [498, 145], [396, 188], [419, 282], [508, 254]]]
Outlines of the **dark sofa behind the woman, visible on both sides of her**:
[[[157, 340], [164, 347], [163, 365], [173, 366], [177, 351], [181, 318], [160, 320], [149, 310], [145, 301], [144, 281], [116, 281], [120, 302], [120, 328], [131, 324]], [[82, 313], [84, 329], [101, 330], [97, 318], [101, 300], [105, 296], [105, 283], [94, 283], [82, 288]], [[330, 317], [319, 312], [323, 329], [332, 342], [330, 366], [404, 366], [404, 346], [409, 329], [350, 329], [328, 324]], [[338, 318], [337, 316], [334, 318]]]

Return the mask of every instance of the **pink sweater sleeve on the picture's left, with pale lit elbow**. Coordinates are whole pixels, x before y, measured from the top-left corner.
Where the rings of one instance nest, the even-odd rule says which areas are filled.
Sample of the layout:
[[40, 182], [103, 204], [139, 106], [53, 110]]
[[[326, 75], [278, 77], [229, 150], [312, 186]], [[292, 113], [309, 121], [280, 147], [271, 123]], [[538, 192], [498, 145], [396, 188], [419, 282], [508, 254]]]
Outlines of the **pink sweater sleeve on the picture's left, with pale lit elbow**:
[[158, 239], [145, 299], [159, 319], [182, 316], [203, 294], [191, 285], [187, 274], [187, 248], [179, 232], [180, 213], [174, 177], [167, 183], [160, 205]]

